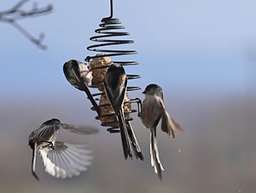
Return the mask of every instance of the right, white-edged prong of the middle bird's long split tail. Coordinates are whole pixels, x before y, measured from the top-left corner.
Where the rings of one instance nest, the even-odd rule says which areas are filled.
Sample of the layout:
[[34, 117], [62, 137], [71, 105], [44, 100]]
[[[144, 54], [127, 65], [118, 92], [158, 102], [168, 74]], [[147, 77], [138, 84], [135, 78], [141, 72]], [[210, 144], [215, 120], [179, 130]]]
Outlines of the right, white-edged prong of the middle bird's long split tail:
[[139, 146], [139, 144], [137, 143], [137, 139], [136, 139], [136, 135], [133, 132], [133, 129], [131, 127], [131, 122], [127, 122], [127, 129], [128, 129], [128, 134], [129, 134], [129, 138], [131, 141], [131, 146], [132, 146], [132, 150], [136, 156], [136, 158], [140, 158], [141, 160], [143, 160], [143, 153], [142, 150]]

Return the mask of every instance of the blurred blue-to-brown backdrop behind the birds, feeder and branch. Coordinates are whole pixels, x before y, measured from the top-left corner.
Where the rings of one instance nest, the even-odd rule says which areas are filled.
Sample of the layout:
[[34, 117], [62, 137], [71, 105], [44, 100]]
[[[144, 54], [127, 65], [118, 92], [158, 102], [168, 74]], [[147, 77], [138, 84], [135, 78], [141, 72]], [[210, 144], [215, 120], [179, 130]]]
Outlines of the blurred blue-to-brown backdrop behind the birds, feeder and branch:
[[[15, 3], [3, 1], [0, 11]], [[129, 83], [160, 84], [167, 111], [184, 130], [173, 140], [158, 129], [162, 181], [150, 166], [149, 131], [137, 115], [132, 125], [144, 162], [124, 159], [119, 133], [100, 126], [89, 100], [62, 72], [67, 60], [96, 54], [86, 47], [109, 15], [108, 0], [38, 3], [52, 3], [53, 13], [19, 23], [36, 37], [43, 31], [47, 50], [0, 23], [0, 192], [255, 192], [255, 1], [113, 1], [113, 16], [135, 40], [128, 47], [138, 52], [125, 60], [140, 62], [125, 69], [142, 76]], [[131, 97], [143, 99], [142, 91]], [[38, 159], [38, 182], [28, 135], [52, 117], [97, 126], [96, 135], [59, 136], [86, 143], [95, 159], [87, 172], [65, 180], [44, 173]]]

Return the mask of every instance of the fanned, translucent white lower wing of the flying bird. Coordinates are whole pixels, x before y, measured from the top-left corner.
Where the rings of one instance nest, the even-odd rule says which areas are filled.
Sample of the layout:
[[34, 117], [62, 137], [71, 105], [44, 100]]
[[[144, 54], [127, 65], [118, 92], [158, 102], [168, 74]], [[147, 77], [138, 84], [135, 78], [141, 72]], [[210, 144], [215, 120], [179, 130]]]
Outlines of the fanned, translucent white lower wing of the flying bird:
[[74, 145], [56, 141], [55, 148], [39, 149], [45, 172], [55, 178], [78, 176], [90, 166], [93, 156], [86, 145]]

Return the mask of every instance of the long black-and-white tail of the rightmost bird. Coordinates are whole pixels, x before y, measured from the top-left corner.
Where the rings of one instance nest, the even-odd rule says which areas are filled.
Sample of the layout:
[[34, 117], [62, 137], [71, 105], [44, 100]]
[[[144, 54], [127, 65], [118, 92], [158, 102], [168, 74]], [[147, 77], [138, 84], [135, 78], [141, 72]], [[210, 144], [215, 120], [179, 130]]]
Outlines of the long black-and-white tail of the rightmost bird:
[[154, 173], [158, 174], [158, 178], [162, 179], [162, 172], [164, 171], [164, 167], [160, 162], [160, 156], [157, 147], [156, 141], [156, 129], [151, 129], [150, 132], [150, 155], [151, 155], [151, 166], [154, 167]]

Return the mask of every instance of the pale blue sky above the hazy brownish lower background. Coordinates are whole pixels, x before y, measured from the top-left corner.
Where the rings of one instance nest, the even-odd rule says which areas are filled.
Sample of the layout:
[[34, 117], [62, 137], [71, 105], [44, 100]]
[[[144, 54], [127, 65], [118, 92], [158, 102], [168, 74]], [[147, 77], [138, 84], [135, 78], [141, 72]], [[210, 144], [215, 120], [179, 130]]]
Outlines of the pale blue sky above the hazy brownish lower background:
[[[13, 2], [3, 2], [1, 9]], [[43, 6], [51, 2], [38, 3]], [[108, 1], [52, 4], [52, 14], [20, 20], [34, 36], [44, 31], [46, 51], [9, 24], [0, 24], [0, 87], [4, 98], [17, 91], [25, 96], [47, 90], [52, 95], [69, 92], [70, 85], [62, 73], [64, 62], [96, 54], [86, 47], [93, 44], [89, 38], [109, 14]], [[114, 17], [131, 33], [127, 38], [135, 40], [126, 48], [137, 50], [131, 60], [138, 60], [140, 65], [126, 71], [143, 78], [133, 84], [144, 88], [149, 82], [157, 82], [166, 92], [171, 93], [173, 88], [177, 94], [243, 91], [249, 64], [247, 50], [254, 54], [256, 48], [254, 1], [132, 0], [113, 4]]]

